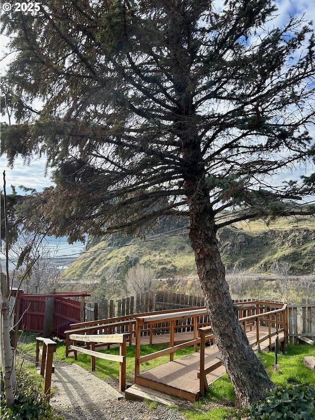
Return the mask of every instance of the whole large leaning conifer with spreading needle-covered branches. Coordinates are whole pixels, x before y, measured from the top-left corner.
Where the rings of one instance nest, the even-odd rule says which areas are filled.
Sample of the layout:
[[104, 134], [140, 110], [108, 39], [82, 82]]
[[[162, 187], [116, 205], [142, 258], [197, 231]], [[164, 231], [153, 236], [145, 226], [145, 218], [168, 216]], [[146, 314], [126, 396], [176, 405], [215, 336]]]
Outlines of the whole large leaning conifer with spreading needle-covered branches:
[[[55, 187], [35, 194], [30, 226], [70, 241], [144, 232], [187, 216], [222, 361], [240, 405], [273, 387], [242, 331], [218, 228], [314, 214], [297, 200], [314, 177], [273, 175], [314, 158], [314, 34], [303, 18], [271, 22], [269, 0], [47, 0], [10, 12], [16, 51], [3, 78], [16, 125], [10, 163], [45, 155]], [[271, 28], [271, 29], [268, 29]]]

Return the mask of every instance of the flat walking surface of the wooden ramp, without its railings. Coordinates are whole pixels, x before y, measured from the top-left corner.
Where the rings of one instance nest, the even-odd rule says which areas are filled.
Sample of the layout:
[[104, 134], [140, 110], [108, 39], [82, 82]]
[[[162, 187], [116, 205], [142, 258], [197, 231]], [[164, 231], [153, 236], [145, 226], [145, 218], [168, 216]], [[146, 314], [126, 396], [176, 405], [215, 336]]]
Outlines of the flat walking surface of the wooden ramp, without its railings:
[[[268, 335], [268, 327], [259, 327], [259, 336], [263, 338]], [[275, 328], [272, 328], [272, 333], [275, 333]], [[189, 333], [174, 334], [174, 341], [181, 343], [188, 341]], [[247, 332], [248, 339], [252, 346], [256, 344], [256, 329]], [[185, 337], [185, 338], [184, 338]], [[154, 336], [154, 344], [169, 344], [169, 334], [161, 334]], [[148, 344], [146, 341], [149, 337], [141, 337], [141, 344]], [[279, 334], [279, 341], [284, 341], [284, 333]], [[271, 337], [272, 347], [275, 346], [275, 336]], [[269, 336], [266, 340], [260, 343], [260, 351], [269, 351]], [[205, 369], [220, 362], [221, 356], [216, 345], [207, 347], [205, 349]], [[200, 368], [200, 353], [196, 352], [191, 355], [182, 357], [180, 359], [170, 361], [162, 366], [156, 367], [149, 371], [140, 373], [137, 377], [137, 385], [155, 389], [159, 392], [166, 393], [178, 398], [184, 398], [191, 402], [197, 401], [200, 398], [198, 372]], [[207, 383], [218, 379], [225, 372], [224, 366], [219, 366], [209, 373]], [[137, 385], [133, 386], [137, 388]], [[126, 399], [135, 399], [134, 389], [126, 389]]]

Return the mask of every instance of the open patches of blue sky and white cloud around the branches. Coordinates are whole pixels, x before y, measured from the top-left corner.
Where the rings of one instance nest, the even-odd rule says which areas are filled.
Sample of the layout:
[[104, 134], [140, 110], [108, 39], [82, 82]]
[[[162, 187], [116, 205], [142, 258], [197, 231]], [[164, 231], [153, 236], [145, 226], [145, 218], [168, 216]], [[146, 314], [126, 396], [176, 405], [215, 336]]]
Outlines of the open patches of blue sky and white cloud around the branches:
[[[283, 26], [284, 23], [288, 20], [288, 16], [291, 14], [296, 14], [301, 16], [305, 13], [305, 18], [307, 20], [315, 19], [315, 2], [310, 0], [277, 0], [276, 1], [278, 6], [277, 17], [273, 21], [273, 25], [275, 26]], [[222, 7], [223, 0], [216, 0], [216, 5], [218, 10]], [[3, 50], [5, 47], [6, 40], [5, 38], [1, 38], [1, 54], [3, 54]], [[3, 63], [1, 63], [1, 67]], [[2, 121], [5, 121], [5, 119]], [[315, 138], [315, 130], [314, 138]], [[24, 185], [29, 188], [34, 188], [37, 191], [41, 191], [44, 187], [48, 187], [51, 185], [49, 173], [48, 176], [45, 176], [45, 161], [44, 159], [34, 159], [30, 164], [24, 164], [22, 159], [17, 159], [14, 165], [14, 168], [11, 169], [7, 167], [5, 157], [1, 157], [0, 159], [0, 169], [1, 169], [1, 179], [0, 179], [0, 188], [3, 190], [3, 177], [2, 173], [5, 170], [5, 178], [6, 178], [6, 191], [7, 194], [11, 193], [11, 185], [15, 187], [19, 187], [20, 185]], [[298, 168], [294, 173], [290, 171], [286, 171], [280, 175], [277, 175], [279, 179], [279, 183], [285, 179], [289, 180], [292, 178], [299, 178], [301, 174], [309, 175], [312, 171], [314, 171], [314, 167], [301, 167]], [[21, 192], [17, 188], [17, 192]]]

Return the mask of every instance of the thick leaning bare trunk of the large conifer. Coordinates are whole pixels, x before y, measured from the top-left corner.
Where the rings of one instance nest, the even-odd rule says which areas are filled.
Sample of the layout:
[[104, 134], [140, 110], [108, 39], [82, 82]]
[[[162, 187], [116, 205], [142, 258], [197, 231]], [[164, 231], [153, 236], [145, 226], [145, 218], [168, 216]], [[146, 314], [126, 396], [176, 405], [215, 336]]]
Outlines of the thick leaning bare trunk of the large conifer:
[[[192, 153], [193, 146], [190, 143], [189, 149], [185, 151], [184, 156], [190, 162], [198, 158], [198, 147], [196, 149]], [[216, 236], [215, 214], [210, 204], [204, 170], [200, 164], [192, 168], [193, 165], [186, 173], [185, 188], [189, 198], [189, 238], [197, 272], [222, 363], [235, 390], [236, 405], [250, 406], [264, 399], [266, 390], [274, 388], [274, 384], [238, 322], [225, 280], [225, 268]]]

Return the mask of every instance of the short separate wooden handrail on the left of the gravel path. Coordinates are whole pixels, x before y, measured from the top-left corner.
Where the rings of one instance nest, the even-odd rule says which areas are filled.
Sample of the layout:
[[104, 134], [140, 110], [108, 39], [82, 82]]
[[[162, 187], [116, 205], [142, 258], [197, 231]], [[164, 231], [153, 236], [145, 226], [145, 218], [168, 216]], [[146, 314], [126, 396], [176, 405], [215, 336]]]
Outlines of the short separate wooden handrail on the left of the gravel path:
[[[43, 349], [39, 348], [39, 343], [43, 343]], [[36, 358], [35, 366], [39, 363], [39, 354], [41, 353], [40, 374], [45, 378], [44, 395], [47, 401], [50, 400], [51, 375], [54, 371], [53, 357], [57, 350], [57, 343], [49, 338], [36, 337]], [[45, 374], [46, 367], [46, 374]]]

